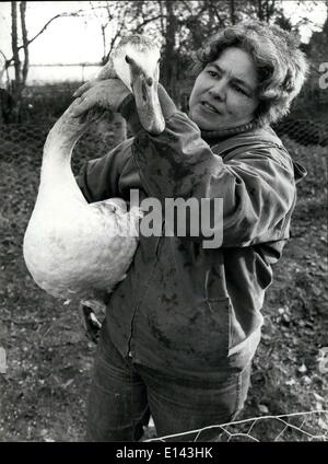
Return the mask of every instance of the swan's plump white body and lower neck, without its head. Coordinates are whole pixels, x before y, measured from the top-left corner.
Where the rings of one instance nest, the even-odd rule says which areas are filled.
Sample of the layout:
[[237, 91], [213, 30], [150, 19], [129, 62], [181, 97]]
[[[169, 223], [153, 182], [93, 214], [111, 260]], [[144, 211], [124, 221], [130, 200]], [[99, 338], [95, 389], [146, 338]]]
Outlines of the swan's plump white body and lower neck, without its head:
[[66, 300], [97, 298], [125, 278], [138, 244], [140, 217], [137, 208], [127, 212], [119, 198], [87, 204], [70, 167], [74, 141], [60, 140], [61, 134], [74, 132], [73, 124], [79, 123], [70, 125], [63, 115], [49, 132], [23, 246], [36, 283]]

